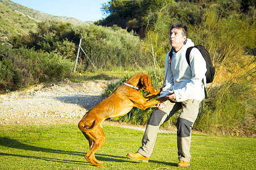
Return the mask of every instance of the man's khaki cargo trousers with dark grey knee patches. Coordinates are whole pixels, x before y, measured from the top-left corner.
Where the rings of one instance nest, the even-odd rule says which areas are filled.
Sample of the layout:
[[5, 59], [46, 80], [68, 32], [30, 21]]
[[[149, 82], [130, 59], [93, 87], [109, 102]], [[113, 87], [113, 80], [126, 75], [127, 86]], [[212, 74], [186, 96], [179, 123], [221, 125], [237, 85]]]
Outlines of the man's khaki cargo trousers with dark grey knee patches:
[[179, 160], [190, 162], [191, 128], [196, 121], [199, 107], [200, 101], [198, 100], [187, 100], [179, 103], [168, 100], [166, 107], [153, 111], [150, 120], [147, 122], [146, 130], [142, 138], [142, 146], [139, 148], [138, 152], [143, 156], [150, 157], [160, 125], [168, 121], [174, 113], [181, 109], [176, 123], [177, 153]]

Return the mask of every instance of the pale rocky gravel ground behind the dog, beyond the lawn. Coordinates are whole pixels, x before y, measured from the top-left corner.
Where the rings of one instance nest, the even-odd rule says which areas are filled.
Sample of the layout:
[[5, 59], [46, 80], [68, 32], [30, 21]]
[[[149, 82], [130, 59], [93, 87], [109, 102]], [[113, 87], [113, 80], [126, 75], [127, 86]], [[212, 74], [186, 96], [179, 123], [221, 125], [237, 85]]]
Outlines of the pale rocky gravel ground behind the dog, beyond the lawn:
[[[68, 80], [39, 84], [21, 91], [0, 95], [0, 125], [78, 124], [82, 116], [99, 103], [106, 80], [74, 83]], [[104, 124], [144, 130], [119, 122]], [[160, 133], [175, 133], [176, 128], [161, 129]]]

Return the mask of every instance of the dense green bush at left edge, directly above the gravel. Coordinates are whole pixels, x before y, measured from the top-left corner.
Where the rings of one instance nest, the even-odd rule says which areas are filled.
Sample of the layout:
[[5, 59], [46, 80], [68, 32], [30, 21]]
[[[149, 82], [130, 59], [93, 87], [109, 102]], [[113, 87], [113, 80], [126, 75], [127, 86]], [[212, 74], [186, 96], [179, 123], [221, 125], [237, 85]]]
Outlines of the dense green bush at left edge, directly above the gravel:
[[10, 49], [2, 53], [0, 86], [10, 90], [42, 82], [61, 80], [71, 75], [74, 62], [57, 53], [34, 49]]

